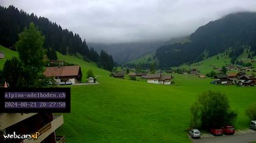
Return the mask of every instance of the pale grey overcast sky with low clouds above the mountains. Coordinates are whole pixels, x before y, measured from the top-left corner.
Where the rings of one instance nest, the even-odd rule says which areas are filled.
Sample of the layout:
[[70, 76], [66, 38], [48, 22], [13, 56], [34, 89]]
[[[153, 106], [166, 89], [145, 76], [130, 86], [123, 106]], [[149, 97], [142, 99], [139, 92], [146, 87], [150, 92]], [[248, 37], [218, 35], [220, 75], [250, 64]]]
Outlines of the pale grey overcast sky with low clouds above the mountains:
[[190, 35], [209, 21], [256, 11], [255, 0], [1, 0], [44, 16], [87, 42], [166, 40]]

